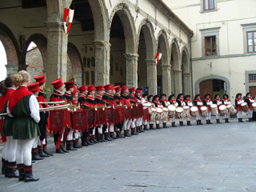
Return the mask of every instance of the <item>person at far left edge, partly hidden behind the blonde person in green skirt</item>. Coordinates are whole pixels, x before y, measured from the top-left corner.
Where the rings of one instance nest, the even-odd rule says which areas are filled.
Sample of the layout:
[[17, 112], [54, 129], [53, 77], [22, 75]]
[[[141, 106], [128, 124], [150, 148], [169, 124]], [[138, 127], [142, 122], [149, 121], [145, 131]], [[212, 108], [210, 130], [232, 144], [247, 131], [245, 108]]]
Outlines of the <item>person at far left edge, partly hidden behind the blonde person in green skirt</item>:
[[[16, 86], [13, 82], [14, 76], [10, 75], [5, 81], [1, 83], [2, 96], [1, 102], [1, 113], [7, 112], [7, 103], [10, 95], [16, 90]], [[7, 178], [18, 178], [16, 171], [16, 150], [17, 140], [13, 138], [13, 126], [14, 118], [6, 115], [4, 119], [1, 119], [2, 126], [2, 141], [4, 142], [4, 148], [2, 150], [2, 174], [5, 174]]]

